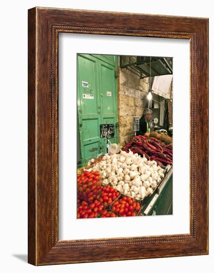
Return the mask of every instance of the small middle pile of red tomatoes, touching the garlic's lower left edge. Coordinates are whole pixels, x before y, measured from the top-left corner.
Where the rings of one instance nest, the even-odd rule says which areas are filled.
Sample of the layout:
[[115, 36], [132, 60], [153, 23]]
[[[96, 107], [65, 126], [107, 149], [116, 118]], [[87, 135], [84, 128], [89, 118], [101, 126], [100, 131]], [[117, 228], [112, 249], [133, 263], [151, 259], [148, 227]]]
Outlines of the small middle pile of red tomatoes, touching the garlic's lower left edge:
[[108, 205], [111, 205], [114, 202], [114, 200], [117, 199], [119, 196], [120, 196], [120, 193], [117, 190], [107, 185], [104, 187], [101, 186], [101, 193], [97, 199], [103, 205], [108, 206]]

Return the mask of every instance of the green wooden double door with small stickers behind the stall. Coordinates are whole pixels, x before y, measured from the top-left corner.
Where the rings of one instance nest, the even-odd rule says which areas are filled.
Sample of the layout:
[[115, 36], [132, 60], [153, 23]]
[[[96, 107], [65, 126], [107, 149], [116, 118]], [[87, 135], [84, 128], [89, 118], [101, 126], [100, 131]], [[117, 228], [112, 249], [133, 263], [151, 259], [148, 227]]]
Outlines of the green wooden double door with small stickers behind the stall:
[[[116, 58], [115, 58], [116, 60]], [[81, 159], [106, 152], [100, 124], [117, 126], [117, 62], [101, 55], [77, 55], [77, 109]], [[118, 130], [111, 142], [118, 141]]]

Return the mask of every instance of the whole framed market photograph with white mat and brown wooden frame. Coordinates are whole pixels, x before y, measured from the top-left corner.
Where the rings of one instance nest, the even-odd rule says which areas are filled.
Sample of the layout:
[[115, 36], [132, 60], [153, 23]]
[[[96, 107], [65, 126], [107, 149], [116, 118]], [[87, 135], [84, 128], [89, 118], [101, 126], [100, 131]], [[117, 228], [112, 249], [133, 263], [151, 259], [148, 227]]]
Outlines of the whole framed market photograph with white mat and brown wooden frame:
[[28, 263], [206, 254], [208, 18], [29, 9]]

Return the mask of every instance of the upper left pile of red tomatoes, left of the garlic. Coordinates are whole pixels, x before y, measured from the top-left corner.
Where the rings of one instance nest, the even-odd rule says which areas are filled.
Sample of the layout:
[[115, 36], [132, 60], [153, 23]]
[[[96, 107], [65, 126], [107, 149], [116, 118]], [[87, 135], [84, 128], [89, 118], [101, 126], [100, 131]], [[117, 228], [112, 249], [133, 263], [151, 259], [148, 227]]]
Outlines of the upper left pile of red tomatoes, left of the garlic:
[[81, 201], [92, 203], [101, 192], [99, 172], [84, 171], [77, 174], [77, 195]]

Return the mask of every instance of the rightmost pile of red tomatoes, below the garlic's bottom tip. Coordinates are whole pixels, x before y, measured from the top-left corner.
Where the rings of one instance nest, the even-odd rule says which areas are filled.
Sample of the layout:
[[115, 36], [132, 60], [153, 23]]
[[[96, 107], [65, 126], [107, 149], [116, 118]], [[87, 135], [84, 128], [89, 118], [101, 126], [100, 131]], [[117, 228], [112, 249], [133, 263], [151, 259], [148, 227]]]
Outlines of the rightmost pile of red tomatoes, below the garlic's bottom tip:
[[131, 197], [124, 196], [113, 203], [111, 210], [123, 217], [137, 216], [141, 211], [141, 204]]

